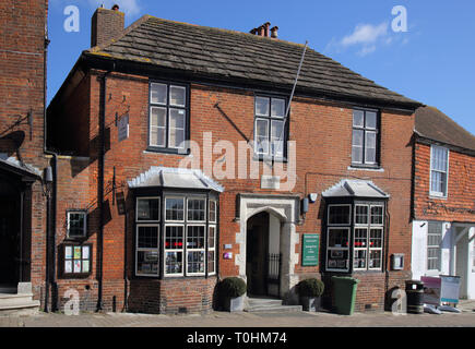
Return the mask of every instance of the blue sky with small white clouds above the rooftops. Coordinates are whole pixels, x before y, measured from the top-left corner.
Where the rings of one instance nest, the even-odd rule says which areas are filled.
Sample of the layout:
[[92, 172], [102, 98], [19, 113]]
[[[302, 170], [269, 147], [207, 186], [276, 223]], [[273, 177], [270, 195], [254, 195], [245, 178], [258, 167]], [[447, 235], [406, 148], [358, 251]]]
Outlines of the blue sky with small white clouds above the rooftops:
[[126, 26], [144, 14], [245, 33], [271, 22], [281, 39], [308, 41], [475, 134], [473, 0], [49, 0], [48, 103], [90, 48], [91, 17], [103, 3], [108, 9], [119, 4]]

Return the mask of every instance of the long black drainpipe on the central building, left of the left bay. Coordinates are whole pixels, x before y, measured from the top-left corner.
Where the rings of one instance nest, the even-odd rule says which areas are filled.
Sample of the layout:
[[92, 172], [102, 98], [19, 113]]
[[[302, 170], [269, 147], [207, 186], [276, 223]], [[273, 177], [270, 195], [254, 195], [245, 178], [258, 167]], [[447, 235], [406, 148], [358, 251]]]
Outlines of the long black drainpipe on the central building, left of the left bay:
[[104, 163], [106, 154], [106, 101], [107, 101], [107, 76], [116, 69], [112, 68], [103, 75], [100, 115], [99, 115], [99, 156], [98, 156], [98, 183], [97, 183], [97, 204], [99, 208], [99, 233], [97, 237], [97, 308], [96, 311], [103, 310], [103, 249], [104, 249]]

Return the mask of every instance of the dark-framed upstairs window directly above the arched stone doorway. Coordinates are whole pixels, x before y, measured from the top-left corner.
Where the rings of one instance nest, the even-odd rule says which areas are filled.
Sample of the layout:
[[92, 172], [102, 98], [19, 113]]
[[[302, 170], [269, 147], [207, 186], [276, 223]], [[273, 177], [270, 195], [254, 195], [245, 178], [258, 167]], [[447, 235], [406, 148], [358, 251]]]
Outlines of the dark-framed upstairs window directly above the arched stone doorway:
[[256, 96], [254, 154], [259, 157], [284, 157], [286, 146], [285, 108], [285, 99]]

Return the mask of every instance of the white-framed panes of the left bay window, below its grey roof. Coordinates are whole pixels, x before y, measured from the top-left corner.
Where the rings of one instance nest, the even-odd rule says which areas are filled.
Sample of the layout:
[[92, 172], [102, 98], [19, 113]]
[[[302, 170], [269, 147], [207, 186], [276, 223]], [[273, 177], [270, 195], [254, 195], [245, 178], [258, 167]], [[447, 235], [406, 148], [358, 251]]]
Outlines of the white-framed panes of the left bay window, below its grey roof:
[[204, 194], [163, 193], [161, 197], [136, 197], [135, 275], [215, 274], [217, 200]]

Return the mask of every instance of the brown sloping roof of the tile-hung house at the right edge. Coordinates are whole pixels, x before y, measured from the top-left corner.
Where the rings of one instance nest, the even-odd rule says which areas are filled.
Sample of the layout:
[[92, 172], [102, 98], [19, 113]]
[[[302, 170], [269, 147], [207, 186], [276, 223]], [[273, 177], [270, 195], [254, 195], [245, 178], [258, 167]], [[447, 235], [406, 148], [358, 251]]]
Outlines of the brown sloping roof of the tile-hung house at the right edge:
[[435, 107], [416, 110], [415, 129], [425, 139], [475, 151], [475, 136]]

